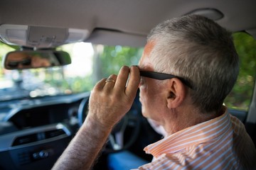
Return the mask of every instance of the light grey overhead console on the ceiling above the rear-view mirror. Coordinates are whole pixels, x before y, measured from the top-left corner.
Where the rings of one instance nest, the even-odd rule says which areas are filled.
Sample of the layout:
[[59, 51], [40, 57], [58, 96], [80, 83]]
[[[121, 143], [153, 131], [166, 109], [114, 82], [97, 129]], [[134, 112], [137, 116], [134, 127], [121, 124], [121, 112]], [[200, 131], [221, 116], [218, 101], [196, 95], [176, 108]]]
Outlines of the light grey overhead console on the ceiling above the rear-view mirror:
[[7, 24], [0, 26], [0, 40], [9, 45], [24, 47], [57, 47], [72, 42], [81, 42], [89, 35], [89, 30], [74, 28], [51, 28]]

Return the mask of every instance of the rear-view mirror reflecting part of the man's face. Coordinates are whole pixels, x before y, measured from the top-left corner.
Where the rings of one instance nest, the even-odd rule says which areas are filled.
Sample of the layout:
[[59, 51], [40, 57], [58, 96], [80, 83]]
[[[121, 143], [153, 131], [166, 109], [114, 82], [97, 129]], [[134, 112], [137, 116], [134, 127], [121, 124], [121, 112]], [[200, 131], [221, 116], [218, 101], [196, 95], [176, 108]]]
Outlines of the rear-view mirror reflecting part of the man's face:
[[68, 52], [52, 50], [9, 52], [3, 60], [5, 69], [33, 69], [70, 63], [71, 58]]

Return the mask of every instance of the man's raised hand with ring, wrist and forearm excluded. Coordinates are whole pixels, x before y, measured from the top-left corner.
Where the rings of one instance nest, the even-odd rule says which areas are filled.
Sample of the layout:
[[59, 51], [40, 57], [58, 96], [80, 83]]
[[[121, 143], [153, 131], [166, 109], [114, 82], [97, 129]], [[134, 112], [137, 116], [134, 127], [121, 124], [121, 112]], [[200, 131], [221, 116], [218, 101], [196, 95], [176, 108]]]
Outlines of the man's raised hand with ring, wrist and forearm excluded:
[[90, 95], [87, 118], [102, 128], [112, 128], [132, 107], [139, 81], [139, 69], [125, 66], [117, 76], [99, 81]]

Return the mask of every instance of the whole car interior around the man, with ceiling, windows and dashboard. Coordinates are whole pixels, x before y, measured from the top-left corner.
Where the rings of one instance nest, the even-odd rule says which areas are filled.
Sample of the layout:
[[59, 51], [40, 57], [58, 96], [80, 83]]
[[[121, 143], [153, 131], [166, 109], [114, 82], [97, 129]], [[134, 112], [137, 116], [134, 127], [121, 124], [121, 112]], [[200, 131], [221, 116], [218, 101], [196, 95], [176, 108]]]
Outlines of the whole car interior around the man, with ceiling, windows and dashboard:
[[[97, 81], [137, 65], [169, 18], [206, 16], [233, 33], [240, 74], [225, 100], [256, 145], [256, 1], [0, 1], [0, 169], [51, 169], [86, 118]], [[139, 94], [139, 90], [138, 90]], [[93, 169], [151, 162], [163, 137], [135, 98]]]

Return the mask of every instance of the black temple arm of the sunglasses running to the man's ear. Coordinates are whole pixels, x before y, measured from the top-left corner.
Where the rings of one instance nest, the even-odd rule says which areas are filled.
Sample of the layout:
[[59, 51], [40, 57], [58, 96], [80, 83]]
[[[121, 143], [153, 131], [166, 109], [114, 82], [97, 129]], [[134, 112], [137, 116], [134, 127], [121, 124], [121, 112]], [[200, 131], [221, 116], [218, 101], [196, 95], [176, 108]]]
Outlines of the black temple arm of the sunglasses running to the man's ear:
[[183, 79], [182, 77], [174, 76], [172, 74], [159, 73], [159, 72], [144, 72], [144, 71], [139, 71], [139, 72], [141, 77], [148, 77], [151, 79], [165, 80], [165, 79], [177, 78], [181, 80], [183, 84], [193, 89], [191, 84], [186, 79]]

